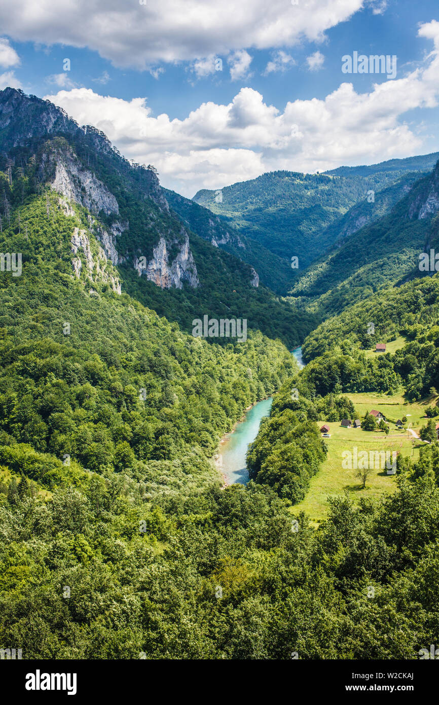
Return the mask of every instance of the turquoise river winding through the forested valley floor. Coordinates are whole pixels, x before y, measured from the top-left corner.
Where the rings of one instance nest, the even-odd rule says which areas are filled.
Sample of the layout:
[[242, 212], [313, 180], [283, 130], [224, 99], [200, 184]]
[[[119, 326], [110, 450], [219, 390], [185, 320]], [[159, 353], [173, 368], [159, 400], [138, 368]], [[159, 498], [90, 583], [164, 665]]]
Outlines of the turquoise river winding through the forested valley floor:
[[[292, 350], [292, 355], [295, 356], [299, 367], [304, 367], [302, 348]], [[219, 451], [218, 467], [227, 484], [249, 482], [249, 472], [245, 462], [247, 446], [256, 438], [261, 419], [270, 413], [272, 402], [273, 397], [270, 397], [256, 403], [247, 411], [244, 420], [236, 424], [235, 430], [224, 436]]]

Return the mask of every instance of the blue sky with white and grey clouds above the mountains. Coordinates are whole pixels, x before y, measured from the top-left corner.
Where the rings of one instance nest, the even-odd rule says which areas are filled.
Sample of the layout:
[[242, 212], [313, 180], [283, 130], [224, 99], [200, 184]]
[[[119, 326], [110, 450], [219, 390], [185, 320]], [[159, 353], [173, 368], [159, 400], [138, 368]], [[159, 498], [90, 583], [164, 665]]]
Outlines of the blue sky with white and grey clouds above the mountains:
[[0, 89], [187, 197], [439, 151], [438, 0], [1, 0], [0, 27]]

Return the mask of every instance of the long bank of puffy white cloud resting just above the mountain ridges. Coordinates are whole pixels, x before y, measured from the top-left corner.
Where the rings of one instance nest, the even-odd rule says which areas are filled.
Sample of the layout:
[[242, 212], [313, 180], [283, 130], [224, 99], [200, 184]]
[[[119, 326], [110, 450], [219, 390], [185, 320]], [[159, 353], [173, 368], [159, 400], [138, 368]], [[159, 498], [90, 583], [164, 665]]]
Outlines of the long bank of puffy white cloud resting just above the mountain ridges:
[[104, 131], [126, 157], [159, 169], [168, 188], [192, 196], [264, 171], [314, 172], [419, 154], [422, 140], [402, 116], [438, 106], [439, 23], [419, 27], [435, 49], [404, 78], [357, 93], [342, 83], [324, 99], [291, 100], [283, 111], [242, 88], [229, 104], [206, 102], [183, 120], [153, 116], [146, 99], [125, 101], [90, 89], [47, 96], [80, 124]]

